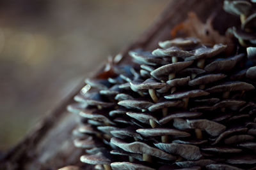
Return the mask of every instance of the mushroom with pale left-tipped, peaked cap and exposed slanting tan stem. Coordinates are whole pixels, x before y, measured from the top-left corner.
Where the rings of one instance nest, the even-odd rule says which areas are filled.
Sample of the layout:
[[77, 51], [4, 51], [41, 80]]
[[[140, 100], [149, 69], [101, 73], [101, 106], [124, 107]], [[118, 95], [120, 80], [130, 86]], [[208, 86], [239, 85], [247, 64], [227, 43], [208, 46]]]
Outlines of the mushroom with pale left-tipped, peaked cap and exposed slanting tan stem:
[[148, 78], [147, 80], [143, 81], [142, 83], [134, 83], [134, 81], [130, 82], [131, 89], [136, 90], [148, 90], [148, 93], [154, 103], [157, 103], [158, 98], [156, 96], [156, 90], [155, 89], [161, 89], [166, 85], [166, 83], [159, 83], [153, 78]]

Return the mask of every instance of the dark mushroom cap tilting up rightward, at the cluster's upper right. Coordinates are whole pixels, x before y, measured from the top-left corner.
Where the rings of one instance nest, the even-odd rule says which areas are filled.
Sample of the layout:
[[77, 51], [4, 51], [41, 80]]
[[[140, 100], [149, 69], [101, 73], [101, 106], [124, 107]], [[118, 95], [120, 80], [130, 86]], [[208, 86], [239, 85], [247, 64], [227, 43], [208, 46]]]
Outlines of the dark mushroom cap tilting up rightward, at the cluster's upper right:
[[222, 71], [229, 71], [234, 66], [236, 66], [239, 60], [243, 59], [244, 53], [240, 53], [239, 55], [235, 55], [234, 57], [230, 57], [227, 59], [216, 59], [207, 66], [205, 66], [205, 71], [211, 73], [221, 73]]

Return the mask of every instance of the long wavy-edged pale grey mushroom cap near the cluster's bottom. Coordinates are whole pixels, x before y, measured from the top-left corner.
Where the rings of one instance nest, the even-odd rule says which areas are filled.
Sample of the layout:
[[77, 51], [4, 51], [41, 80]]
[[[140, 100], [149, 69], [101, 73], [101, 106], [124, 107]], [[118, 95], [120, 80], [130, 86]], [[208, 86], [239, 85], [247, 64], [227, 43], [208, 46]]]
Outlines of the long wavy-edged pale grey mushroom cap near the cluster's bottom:
[[176, 158], [173, 155], [170, 155], [168, 153], [163, 152], [162, 150], [159, 150], [157, 148], [153, 148], [151, 146], [148, 146], [145, 143], [142, 142], [132, 142], [132, 143], [125, 143], [121, 139], [118, 138], [111, 138], [111, 143], [113, 145], [118, 146], [122, 150], [125, 150], [127, 152], [132, 153], [145, 153], [147, 155], [152, 155], [154, 157], [159, 157], [164, 160], [175, 160]]

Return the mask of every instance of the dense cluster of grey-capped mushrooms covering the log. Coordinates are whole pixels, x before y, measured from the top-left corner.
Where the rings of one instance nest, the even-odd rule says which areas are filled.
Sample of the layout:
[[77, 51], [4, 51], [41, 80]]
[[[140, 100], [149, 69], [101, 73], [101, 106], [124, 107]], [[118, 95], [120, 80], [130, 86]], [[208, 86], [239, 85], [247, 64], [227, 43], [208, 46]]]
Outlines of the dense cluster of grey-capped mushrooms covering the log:
[[[241, 8], [242, 6], [242, 8]], [[241, 17], [240, 47], [196, 38], [129, 52], [105, 78], [88, 78], [77, 103], [74, 145], [95, 169], [255, 169], [256, 14], [249, 1], [225, 1]]]

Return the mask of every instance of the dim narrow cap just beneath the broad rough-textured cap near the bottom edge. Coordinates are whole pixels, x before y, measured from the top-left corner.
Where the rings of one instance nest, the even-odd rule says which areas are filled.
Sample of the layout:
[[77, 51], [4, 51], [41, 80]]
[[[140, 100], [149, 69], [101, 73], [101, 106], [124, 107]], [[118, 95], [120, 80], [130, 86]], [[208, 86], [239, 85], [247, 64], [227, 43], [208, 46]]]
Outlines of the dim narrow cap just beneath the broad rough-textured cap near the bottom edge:
[[175, 164], [179, 167], [193, 167], [193, 166], [200, 166], [205, 167], [209, 164], [214, 164], [215, 162], [211, 159], [200, 159], [200, 160], [187, 160], [187, 161], [179, 161], [175, 162]]

